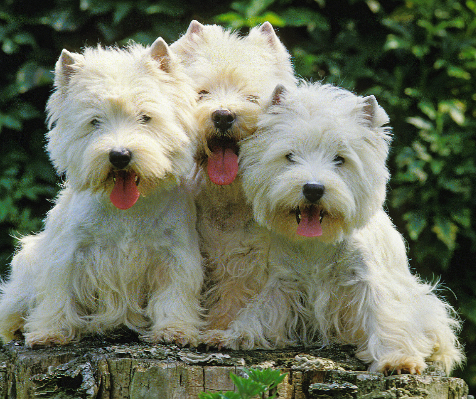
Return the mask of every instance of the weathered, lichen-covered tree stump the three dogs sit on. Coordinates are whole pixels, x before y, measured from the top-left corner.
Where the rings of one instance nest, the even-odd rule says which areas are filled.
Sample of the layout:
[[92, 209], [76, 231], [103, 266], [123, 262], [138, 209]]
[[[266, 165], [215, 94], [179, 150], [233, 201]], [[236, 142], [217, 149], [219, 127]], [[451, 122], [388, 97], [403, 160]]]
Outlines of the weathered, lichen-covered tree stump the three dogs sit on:
[[280, 398], [470, 399], [466, 383], [428, 375], [368, 373], [349, 346], [274, 351], [207, 351], [174, 345], [88, 340], [29, 349], [12, 342], [0, 353], [0, 399], [179, 399], [204, 390], [233, 390], [230, 372], [274, 367], [288, 373]]

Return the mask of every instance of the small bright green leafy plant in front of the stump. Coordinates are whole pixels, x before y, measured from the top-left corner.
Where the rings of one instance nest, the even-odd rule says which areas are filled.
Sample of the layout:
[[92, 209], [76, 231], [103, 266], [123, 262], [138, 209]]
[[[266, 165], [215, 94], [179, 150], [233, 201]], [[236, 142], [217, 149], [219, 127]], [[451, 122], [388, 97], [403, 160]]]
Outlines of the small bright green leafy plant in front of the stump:
[[[236, 392], [204, 392], [199, 393], [200, 399], [250, 399], [252, 397], [265, 397], [271, 394], [272, 390], [284, 380], [286, 374], [281, 374], [281, 370], [272, 369], [245, 369], [246, 377], [238, 377], [230, 373], [230, 378], [236, 386]], [[277, 394], [266, 396], [269, 399], [277, 397]]]

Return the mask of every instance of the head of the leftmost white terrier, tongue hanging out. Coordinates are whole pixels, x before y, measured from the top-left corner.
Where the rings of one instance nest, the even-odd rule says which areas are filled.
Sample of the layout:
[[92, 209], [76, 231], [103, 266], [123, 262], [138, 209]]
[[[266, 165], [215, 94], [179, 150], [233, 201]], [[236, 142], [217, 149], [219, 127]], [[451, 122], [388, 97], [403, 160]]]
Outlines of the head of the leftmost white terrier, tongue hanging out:
[[47, 106], [51, 160], [73, 189], [130, 208], [191, 168], [194, 101], [162, 38], [147, 49], [63, 50]]

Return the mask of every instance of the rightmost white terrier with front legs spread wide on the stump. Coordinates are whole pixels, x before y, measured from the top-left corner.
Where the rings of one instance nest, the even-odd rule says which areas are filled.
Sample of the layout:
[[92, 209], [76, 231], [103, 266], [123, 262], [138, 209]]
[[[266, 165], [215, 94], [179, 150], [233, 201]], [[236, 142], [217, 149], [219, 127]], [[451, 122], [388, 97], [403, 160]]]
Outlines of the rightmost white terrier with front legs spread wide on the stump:
[[450, 372], [463, 360], [459, 323], [412, 275], [382, 204], [389, 178], [385, 111], [330, 85], [278, 86], [241, 145], [243, 186], [271, 230], [269, 278], [215, 344], [357, 346], [370, 371]]

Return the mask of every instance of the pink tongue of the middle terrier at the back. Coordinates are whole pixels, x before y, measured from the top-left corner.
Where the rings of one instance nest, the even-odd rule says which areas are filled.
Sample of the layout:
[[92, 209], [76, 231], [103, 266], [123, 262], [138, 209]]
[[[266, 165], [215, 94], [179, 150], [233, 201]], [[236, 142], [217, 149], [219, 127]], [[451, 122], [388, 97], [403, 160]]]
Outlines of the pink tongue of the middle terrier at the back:
[[218, 147], [208, 157], [207, 170], [215, 184], [231, 184], [238, 173], [238, 155], [231, 148]]

